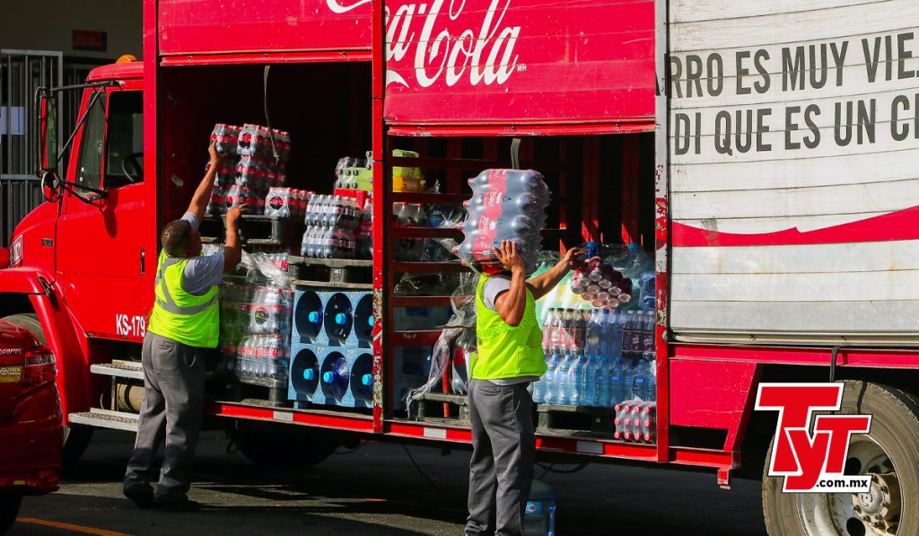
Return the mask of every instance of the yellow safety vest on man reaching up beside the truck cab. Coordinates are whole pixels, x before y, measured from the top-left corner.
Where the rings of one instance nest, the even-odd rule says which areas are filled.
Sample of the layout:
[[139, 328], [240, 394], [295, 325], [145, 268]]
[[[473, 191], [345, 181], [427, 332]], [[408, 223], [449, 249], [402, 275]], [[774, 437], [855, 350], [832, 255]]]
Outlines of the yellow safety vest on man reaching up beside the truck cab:
[[182, 289], [187, 257], [160, 253], [156, 266], [153, 313], [147, 330], [196, 348], [217, 348], [220, 336], [220, 307], [217, 285], [203, 296]]

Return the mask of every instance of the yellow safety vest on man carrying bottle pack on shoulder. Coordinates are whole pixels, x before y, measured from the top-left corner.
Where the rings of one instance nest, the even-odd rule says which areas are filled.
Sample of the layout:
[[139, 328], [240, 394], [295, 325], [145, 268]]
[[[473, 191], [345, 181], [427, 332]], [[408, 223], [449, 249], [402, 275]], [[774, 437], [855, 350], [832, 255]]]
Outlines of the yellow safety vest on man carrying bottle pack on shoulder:
[[475, 330], [478, 355], [470, 364], [470, 377], [476, 380], [502, 380], [542, 376], [546, 359], [542, 355], [542, 330], [536, 319], [536, 300], [527, 289], [527, 308], [520, 325], [507, 325], [501, 314], [485, 307], [482, 292], [489, 276], [479, 278], [475, 290]]

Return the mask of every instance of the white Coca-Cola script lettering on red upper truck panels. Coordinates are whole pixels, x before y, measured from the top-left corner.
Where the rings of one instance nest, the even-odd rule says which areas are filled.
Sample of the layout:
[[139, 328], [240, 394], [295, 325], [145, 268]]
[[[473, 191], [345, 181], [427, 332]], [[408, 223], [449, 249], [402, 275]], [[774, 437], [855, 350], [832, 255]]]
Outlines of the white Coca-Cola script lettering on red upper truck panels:
[[[325, 2], [334, 13], [342, 14], [370, 0]], [[421, 87], [433, 86], [441, 78], [447, 86], [463, 79], [471, 86], [500, 86], [517, 71], [514, 47], [520, 27], [503, 26], [511, 0], [491, 0], [487, 9], [467, 9], [467, 0], [450, 0], [443, 10], [445, 3], [403, 4], [395, 13], [385, 8], [386, 63], [395, 69], [387, 69], [387, 86], [411, 87], [403, 73], [413, 73]], [[453, 21], [459, 22], [447, 28]]]

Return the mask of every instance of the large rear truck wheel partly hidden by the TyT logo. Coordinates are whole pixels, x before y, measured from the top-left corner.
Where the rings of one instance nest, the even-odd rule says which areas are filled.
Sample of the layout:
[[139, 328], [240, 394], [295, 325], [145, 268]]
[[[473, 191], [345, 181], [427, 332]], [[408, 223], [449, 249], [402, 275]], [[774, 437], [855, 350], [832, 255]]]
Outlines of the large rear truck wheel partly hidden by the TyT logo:
[[773, 439], [763, 471], [766, 530], [773, 536], [919, 534], [919, 400], [877, 383], [846, 381], [838, 413], [872, 416], [870, 433], [849, 441], [845, 471], [878, 475], [871, 492], [783, 493], [782, 478], [768, 475]]

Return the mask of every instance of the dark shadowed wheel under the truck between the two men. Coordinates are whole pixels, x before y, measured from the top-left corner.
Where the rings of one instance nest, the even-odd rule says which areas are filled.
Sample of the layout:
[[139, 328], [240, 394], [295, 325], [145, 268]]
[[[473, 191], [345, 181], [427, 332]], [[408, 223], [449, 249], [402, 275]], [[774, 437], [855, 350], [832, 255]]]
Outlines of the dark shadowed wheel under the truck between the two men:
[[274, 423], [239, 421], [236, 442], [256, 465], [272, 469], [304, 469], [335, 452], [341, 442], [316, 430]]

